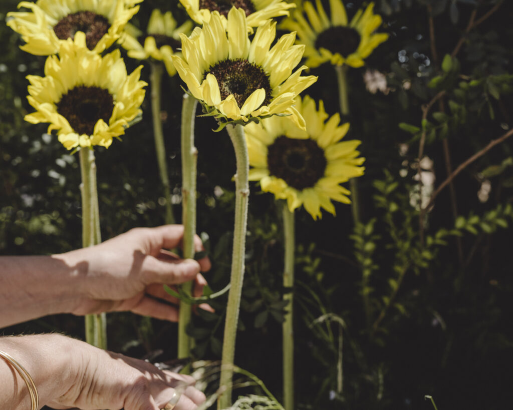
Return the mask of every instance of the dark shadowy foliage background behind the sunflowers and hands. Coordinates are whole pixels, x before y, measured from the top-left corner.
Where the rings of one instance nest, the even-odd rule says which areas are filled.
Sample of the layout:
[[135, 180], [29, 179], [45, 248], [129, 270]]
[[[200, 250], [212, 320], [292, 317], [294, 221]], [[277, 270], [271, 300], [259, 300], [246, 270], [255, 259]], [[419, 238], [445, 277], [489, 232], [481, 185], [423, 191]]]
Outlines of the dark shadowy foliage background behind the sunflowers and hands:
[[[2, 2], [2, 23], [16, 3]], [[477, 8], [476, 21], [497, 3], [387, 0], [376, 5], [384, 20], [380, 30], [388, 32], [390, 38], [366, 59], [367, 67], [349, 70], [351, 129], [346, 137], [362, 140], [366, 173], [359, 183], [362, 220], [368, 228], [357, 235], [372, 245], [367, 253], [355, 248], [348, 206], [336, 204], [337, 216], [324, 213], [319, 221], [313, 221], [304, 210], [297, 212], [297, 408], [432, 408], [424, 395], [432, 395], [441, 410], [511, 407], [512, 213], [505, 208], [512, 198], [511, 142], [506, 140], [490, 150], [453, 180], [458, 215], [464, 217], [457, 230], [461, 234], [460, 258], [457, 236], [450, 231], [455, 221], [448, 188], [437, 197], [425, 230], [426, 236], [442, 238], [445, 243], [421, 247], [419, 215], [409, 204], [409, 193], [416, 185], [412, 166], [416, 164], [420, 132], [408, 133], [399, 126], [420, 127], [424, 105], [445, 90], [443, 107], [436, 103], [427, 115], [424, 153], [433, 160], [435, 186], [447, 176], [444, 139], [456, 168], [511, 127], [513, 13], [508, 2], [502, 2], [496, 12], [465, 34], [473, 10]], [[133, 23], [144, 30], [151, 9], [166, 10], [167, 4], [146, 0]], [[348, 3], [348, 14], [364, 4]], [[174, 2], [171, 8], [183, 21], [184, 11]], [[458, 63], [453, 61], [444, 71], [444, 55], [455, 49], [462, 36]], [[0, 255], [50, 254], [79, 248], [80, 171], [76, 155], [70, 156], [55, 135], [44, 135], [45, 125], [23, 121], [32, 111], [26, 101], [25, 76], [43, 75], [45, 58], [19, 50], [21, 39], [5, 24], [0, 25], [0, 38]], [[125, 60], [129, 71], [139, 64], [128, 57]], [[367, 68], [386, 75], [386, 95], [366, 90], [363, 74]], [[330, 115], [336, 113], [334, 70], [325, 65], [311, 73], [319, 80], [307, 93], [322, 98]], [[148, 75], [149, 67], [145, 67], [143, 78], [148, 80]], [[440, 79], [434, 84], [437, 76]], [[162, 107], [169, 175], [177, 201], [181, 185], [180, 86], [177, 76], [165, 79]], [[122, 142], [115, 140], [108, 150], [95, 150], [104, 239], [133, 227], [164, 222], [148, 99], [143, 111], [143, 121], [129, 129]], [[442, 111], [446, 117], [432, 115]], [[443, 131], [444, 124], [447, 132]], [[220, 290], [229, 280], [235, 165], [226, 132], [213, 133], [213, 128], [211, 118], [196, 121], [198, 232], [208, 234], [206, 245], [213, 269], [207, 279], [213, 290]], [[408, 147], [404, 156], [399, 154], [402, 144]], [[399, 174], [402, 169], [405, 176]], [[381, 185], [376, 180], [382, 181]], [[482, 201], [477, 194], [485, 180], [490, 182], [491, 191]], [[215, 187], [222, 189], [221, 196], [214, 193]], [[385, 192], [386, 187], [393, 189]], [[219, 189], [215, 191], [219, 193]], [[498, 212], [489, 213], [494, 210]], [[176, 204], [177, 220], [180, 212]], [[475, 216], [472, 220], [471, 215]], [[282, 226], [272, 195], [261, 193], [255, 185], [248, 223], [235, 362], [260, 377], [280, 399]], [[423, 250], [429, 255], [422, 254]], [[372, 266], [366, 284], [359, 257]], [[383, 310], [383, 297], [392, 294], [390, 279], [397, 281], [399, 277], [402, 282], [393, 296], [397, 305], [386, 310], [372, 332], [361, 293], [370, 290], [371, 324]], [[220, 358], [225, 299], [212, 304], [216, 314], [201, 313], [190, 329], [197, 339], [196, 358]], [[335, 322], [314, 323], [325, 313], [333, 313], [345, 323], [342, 395], [335, 393], [340, 327]], [[109, 314], [108, 320], [110, 350], [135, 357], [162, 350], [158, 360], [174, 357], [175, 324], [125, 313]], [[83, 319], [57, 315], [11, 326], [3, 334], [55, 330], [83, 338]]]

